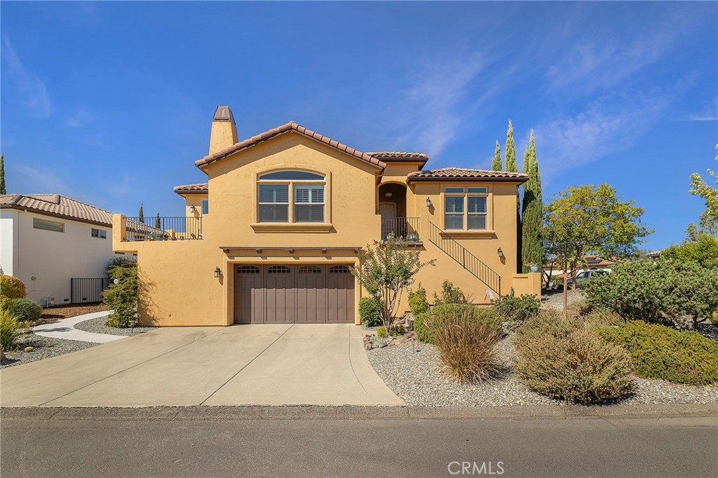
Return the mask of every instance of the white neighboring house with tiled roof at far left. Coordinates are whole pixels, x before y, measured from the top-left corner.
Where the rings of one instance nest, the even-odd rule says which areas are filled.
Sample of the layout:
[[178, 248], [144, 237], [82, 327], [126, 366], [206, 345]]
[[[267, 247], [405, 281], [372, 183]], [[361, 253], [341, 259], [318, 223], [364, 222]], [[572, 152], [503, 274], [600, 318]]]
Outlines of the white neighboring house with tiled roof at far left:
[[[116, 256], [111, 212], [60, 195], [0, 195], [0, 274], [19, 278], [28, 299], [70, 304], [70, 278], [105, 278]], [[76, 303], [96, 300], [78, 289]]]

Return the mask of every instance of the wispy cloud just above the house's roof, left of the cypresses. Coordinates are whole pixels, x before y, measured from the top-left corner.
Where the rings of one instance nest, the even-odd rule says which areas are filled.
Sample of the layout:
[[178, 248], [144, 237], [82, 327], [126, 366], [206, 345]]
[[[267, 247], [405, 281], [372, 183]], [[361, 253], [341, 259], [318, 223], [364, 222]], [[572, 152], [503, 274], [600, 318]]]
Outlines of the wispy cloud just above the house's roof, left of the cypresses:
[[416, 145], [429, 155], [439, 154], [457, 135], [462, 106], [470, 85], [483, 70], [482, 54], [434, 62], [404, 90], [396, 122], [403, 134], [398, 142]]

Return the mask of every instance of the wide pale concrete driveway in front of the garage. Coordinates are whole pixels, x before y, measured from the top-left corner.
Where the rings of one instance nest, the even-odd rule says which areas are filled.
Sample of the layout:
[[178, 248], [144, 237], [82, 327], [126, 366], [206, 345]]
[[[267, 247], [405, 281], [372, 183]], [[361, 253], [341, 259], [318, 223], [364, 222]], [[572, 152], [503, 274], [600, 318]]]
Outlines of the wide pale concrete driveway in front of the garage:
[[157, 329], [0, 370], [1, 406], [401, 405], [353, 324]]

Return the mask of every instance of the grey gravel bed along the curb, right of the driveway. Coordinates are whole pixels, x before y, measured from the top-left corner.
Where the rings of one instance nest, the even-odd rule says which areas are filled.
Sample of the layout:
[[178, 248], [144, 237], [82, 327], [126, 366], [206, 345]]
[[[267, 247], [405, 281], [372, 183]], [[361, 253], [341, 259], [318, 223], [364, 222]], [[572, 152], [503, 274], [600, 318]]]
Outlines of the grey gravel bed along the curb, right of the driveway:
[[[505, 365], [501, 378], [460, 384], [441, 370], [436, 349], [430, 344], [399, 345], [366, 352], [374, 370], [399, 398], [411, 406], [523, 406], [566, 405], [564, 400], [533, 393], [510, 369], [516, 351], [513, 336], [498, 344]], [[718, 386], [676, 385], [663, 380], [635, 379], [635, 391], [615, 403], [716, 403]]]

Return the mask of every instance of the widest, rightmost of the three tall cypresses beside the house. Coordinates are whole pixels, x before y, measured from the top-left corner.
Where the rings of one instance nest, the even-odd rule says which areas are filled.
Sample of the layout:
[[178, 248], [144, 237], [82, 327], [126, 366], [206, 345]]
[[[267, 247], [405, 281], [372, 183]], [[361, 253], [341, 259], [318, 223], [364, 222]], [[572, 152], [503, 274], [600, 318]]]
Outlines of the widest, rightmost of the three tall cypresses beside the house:
[[528, 181], [523, 184], [523, 204], [521, 205], [521, 226], [523, 230], [521, 258], [523, 260], [523, 272], [526, 273], [530, 270], [529, 263], [535, 263], [539, 268], [544, 263], [544, 241], [541, 235], [544, 222], [542, 217], [544, 198], [541, 195], [541, 174], [538, 172], [533, 130], [531, 130], [528, 149], [523, 159], [523, 172], [528, 174]]

